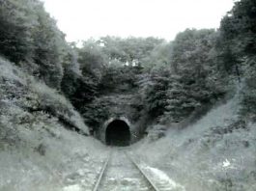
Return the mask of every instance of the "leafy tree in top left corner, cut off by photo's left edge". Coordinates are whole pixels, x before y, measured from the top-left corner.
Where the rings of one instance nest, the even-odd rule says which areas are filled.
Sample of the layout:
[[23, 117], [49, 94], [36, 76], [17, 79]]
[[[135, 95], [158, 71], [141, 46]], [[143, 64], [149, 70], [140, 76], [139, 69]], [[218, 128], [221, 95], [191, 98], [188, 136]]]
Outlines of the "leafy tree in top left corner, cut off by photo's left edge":
[[33, 53], [33, 10], [27, 0], [0, 1], [0, 54], [18, 64], [30, 61]]

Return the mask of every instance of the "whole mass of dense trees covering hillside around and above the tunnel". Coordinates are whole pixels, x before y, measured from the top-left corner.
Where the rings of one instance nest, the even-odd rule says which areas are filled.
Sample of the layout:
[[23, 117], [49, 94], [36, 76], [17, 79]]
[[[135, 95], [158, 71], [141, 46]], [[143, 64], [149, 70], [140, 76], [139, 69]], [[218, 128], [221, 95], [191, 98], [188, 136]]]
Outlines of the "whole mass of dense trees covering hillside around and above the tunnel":
[[255, 18], [255, 1], [242, 0], [219, 30], [186, 29], [170, 42], [108, 36], [78, 48], [42, 2], [0, 0], [0, 54], [62, 91], [92, 126], [111, 115], [113, 100], [129, 102], [134, 122], [151, 119], [140, 125], [181, 123], [224, 97], [236, 80], [244, 81], [242, 115], [253, 116]]

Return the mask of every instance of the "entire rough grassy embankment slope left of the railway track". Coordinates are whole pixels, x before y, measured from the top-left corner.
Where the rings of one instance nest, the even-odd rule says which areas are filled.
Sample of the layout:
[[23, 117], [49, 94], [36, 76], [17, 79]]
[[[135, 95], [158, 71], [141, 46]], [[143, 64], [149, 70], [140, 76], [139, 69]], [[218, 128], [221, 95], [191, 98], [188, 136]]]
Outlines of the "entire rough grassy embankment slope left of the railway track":
[[63, 95], [0, 58], [0, 190], [92, 186], [107, 150], [84, 135]]

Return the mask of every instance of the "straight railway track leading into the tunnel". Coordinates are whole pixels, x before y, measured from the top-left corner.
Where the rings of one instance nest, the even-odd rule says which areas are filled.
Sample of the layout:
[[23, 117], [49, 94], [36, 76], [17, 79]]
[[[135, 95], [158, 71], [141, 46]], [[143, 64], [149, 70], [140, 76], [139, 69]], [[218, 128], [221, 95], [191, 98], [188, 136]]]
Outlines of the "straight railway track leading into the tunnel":
[[153, 177], [126, 150], [112, 150], [105, 160], [93, 191], [171, 191]]

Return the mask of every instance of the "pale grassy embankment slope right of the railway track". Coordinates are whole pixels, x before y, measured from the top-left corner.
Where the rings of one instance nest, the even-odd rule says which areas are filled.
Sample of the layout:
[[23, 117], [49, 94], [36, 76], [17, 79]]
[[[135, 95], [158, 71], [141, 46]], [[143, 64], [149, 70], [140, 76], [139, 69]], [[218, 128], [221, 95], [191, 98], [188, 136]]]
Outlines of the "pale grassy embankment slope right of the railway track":
[[237, 94], [157, 142], [145, 139], [135, 152], [186, 190], [255, 190], [256, 124], [239, 118], [240, 99]]

